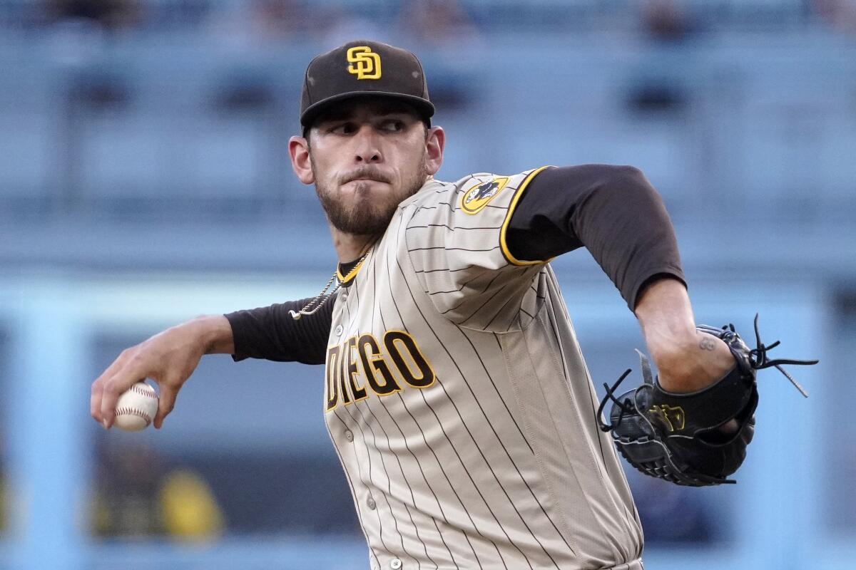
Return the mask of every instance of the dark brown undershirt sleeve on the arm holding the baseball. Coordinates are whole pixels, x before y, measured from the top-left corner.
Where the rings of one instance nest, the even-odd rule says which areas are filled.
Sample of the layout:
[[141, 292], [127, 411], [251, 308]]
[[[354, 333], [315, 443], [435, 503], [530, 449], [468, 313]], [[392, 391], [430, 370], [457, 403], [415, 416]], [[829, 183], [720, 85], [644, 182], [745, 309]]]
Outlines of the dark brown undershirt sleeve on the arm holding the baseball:
[[331, 297], [317, 312], [305, 314], [300, 320], [294, 320], [288, 314], [289, 310], [303, 309], [309, 301], [288, 301], [224, 315], [232, 326], [235, 340], [232, 358], [235, 361], [264, 358], [324, 364], [336, 297]]

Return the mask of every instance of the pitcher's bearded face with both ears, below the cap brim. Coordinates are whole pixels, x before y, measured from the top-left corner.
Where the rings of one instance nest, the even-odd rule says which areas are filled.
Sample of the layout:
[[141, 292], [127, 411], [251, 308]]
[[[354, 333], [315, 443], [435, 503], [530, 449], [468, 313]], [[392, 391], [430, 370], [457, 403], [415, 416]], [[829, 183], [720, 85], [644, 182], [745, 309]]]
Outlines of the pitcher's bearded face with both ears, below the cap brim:
[[[306, 141], [311, 177], [301, 175], [294, 150], [292, 159], [300, 179], [315, 183], [336, 229], [372, 235], [383, 233], [398, 204], [437, 172], [436, 139], [437, 129], [426, 130], [407, 104], [360, 98], [330, 109], [313, 123]], [[440, 147], [442, 155], [442, 143]]]

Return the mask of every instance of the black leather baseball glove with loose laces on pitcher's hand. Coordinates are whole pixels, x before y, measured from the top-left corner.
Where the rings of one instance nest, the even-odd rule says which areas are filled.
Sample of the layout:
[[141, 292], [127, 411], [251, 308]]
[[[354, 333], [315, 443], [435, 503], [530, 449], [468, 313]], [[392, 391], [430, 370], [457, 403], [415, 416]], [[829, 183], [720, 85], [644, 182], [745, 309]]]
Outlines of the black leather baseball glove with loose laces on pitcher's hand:
[[[612, 432], [615, 445], [627, 461], [642, 473], [666, 479], [678, 485], [694, 487], [734, 483], [726, 479], [746, 458], [746, 445], [755, 431], [758, 406], [756, 373], [776, 367], [808, 397], [782, 364], [817, 364], [817, 361], [768, 360], [767, 351], [776, 347], [761, 344], [758, 315], [755, 315], [757, 348], [750, 350], [734, 332], [734, 326], [720, 328], [698, 326], [698, 331], [721, 338], [736, 365], [722, 379], [704, 390], [675, 394], [663, 391], [651, 375], [651, 363], [639, 352], [643, 384], [615, 397], [615, 390], [627, 378], [628, 369], [610, 388], [597, 410], [604, 432]], [[609, 424], [603, 423], [603, 408], [612, 402]], [[736, 420], [736, 431], [721, 430]]]

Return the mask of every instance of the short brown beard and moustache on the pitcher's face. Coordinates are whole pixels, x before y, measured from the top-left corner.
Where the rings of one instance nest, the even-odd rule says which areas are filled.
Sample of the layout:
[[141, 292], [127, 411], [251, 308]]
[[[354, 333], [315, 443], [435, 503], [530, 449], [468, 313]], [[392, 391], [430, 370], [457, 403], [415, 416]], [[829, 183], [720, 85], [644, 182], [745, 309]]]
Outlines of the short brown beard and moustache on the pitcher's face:
[[372, 192], [369, 190], [371, 183], [358, 182], [354, 188], [354, 197], [346, 201], [341, 195], [337, 195], [338, 185], [364, 177], [386, 183], [389, 183], [389, 179], [370, 166], [348, 173], [348, 177], [342, 180], [326, 183], [318, 182], [318, 173], [315, 173], [314, 165], [312, 172], [316, 179], [315, 193], [318, 194], [318, 200], [327, 214], [327, 220], [330, 220], [330, 224], [340, 232], [354, 235], [379, 235], [385, 232], [389, 221], [395, 215], [395, 210], [398, 209], [398, 204], [418, 192], [428, 177], [425, 160], [420, 157], [419, 166], [413, 169], [411, 176], [402, 181], [400, 189], [394, 189], [380, 197], [377, 197], [376, 192], [376, 197], [372, 198]]

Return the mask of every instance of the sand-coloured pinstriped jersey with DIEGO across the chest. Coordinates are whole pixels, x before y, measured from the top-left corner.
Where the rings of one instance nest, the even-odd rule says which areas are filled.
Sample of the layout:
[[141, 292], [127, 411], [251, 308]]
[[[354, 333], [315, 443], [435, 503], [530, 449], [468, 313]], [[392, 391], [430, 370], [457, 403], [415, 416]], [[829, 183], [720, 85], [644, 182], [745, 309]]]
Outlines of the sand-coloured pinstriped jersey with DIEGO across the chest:
[[539, 170], [429, 179], [336, 299], [326, 422], [374, 569], [641, 568], [555, 276], [505, 244]]

